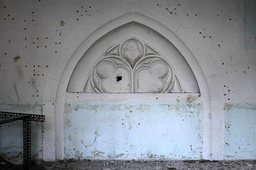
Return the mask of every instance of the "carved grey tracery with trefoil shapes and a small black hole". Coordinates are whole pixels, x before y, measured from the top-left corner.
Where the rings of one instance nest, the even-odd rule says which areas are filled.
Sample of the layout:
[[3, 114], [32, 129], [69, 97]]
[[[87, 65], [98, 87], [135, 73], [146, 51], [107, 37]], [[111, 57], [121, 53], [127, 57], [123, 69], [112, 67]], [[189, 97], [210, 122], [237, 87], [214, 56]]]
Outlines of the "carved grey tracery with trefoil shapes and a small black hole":
[[154, 47], [131, 37], [111, 47], [83, 85], [90, 93], [183, 93], [169, 61]]

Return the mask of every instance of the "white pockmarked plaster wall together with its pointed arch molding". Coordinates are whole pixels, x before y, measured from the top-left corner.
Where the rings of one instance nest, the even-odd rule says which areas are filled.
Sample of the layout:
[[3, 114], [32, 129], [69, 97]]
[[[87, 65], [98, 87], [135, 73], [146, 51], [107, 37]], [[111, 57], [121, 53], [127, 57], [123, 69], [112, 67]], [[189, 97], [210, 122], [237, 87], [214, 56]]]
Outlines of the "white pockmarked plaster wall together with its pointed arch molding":
[[256, 101], [256, 49], [248, 48], [256, 39], [244, 40], [245, 2], [3, 0], [0, 109], [42, 106], [43, 159], [63, 159], [65, 91], [79, 57], [109, 31], [135, 21], [162, 34], [186, 58], [204, 104], [203, 158], [224, 159], [224, 105]]

